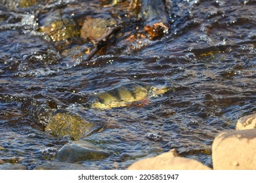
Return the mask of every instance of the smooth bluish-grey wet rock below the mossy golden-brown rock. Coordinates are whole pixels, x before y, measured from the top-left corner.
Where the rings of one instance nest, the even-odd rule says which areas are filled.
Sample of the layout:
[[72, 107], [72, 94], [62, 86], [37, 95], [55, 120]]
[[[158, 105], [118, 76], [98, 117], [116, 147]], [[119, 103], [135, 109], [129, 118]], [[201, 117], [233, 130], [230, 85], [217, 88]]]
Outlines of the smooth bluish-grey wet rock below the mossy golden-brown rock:
[[85, 144], [84, 142], [72, 142], [63, 146], [56, 159], [68, 163], [75, 163], [77, 161], [96, 161], [98, 159], [108, 158], [109, 152], [100, 150], [91, 145]]

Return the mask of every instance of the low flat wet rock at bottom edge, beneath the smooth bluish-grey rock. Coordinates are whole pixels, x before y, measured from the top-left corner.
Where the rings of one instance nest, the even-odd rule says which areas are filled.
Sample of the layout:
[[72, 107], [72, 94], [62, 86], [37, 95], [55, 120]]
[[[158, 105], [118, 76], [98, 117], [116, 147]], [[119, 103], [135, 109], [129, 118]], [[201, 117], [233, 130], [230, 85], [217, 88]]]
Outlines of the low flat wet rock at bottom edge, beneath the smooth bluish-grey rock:
[[52, 162], [44, 163], [35, 167], [34, 170], [91, 170], [93, 167], [85, 167], [83, 165], [74, 163], [64, 163], [64, 162]]

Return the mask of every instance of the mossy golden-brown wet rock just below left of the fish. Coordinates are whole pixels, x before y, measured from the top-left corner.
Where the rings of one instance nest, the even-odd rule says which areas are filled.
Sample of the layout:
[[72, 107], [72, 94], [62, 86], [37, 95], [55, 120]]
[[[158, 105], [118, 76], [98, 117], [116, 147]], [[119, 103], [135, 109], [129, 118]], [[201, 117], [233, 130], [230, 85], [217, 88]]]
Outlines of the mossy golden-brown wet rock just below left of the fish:
[[100, 127], [88, 122], [79, 114], [66, 110], [56, 110], [45, 131], [54, 136], [68, 136], [71, 139], [79, 140], [87, 135], [91, 135]]

